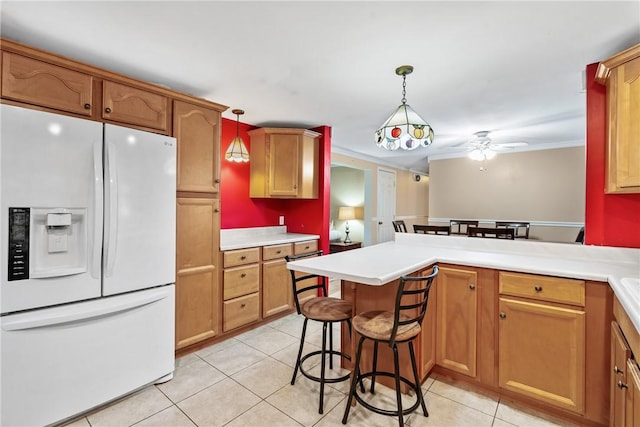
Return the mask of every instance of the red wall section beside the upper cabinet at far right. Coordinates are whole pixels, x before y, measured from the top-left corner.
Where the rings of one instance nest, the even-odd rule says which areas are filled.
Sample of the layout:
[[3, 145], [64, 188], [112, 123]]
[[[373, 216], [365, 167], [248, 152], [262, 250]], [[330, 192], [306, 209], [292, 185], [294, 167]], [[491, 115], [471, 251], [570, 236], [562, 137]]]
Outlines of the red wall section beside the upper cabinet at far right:
[[585, 244], [640, 248], [640, 194], [605, 194], [607, 88], [587, 66]]

